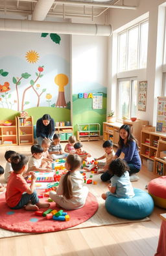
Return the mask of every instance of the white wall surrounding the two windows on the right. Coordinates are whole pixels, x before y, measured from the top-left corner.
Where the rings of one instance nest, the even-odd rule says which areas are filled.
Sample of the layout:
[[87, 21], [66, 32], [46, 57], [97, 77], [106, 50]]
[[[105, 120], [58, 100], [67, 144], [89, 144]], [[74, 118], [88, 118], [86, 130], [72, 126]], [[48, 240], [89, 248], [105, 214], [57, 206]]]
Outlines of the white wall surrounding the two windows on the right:
[[[110, 55], [115, 55], [117, 52], [115, 43], [113, 45], [113, 40], [117, 36], [119, 30], [125, 29], [132, 25], [133, 20], [135, 23], [141, 18], [149, 17], [149, 27], [148, 27], [148, 55], [147, 55], [147, 70], [137, 70], [136, 72], [124, 72], [123, 74], [118, 74], [118, 78], [137, 76], [138, 81], [147, 80], [148, 81], [148, 91], [147, 91], [147, 109], [146, 112], [138, 111], [137, 117], [139, 119], [145, 119], [150, 122], [150, 124], [156, 125], [156, 104], [157, 96], [161, 96], [161, 85], [162, 85], [162, 61], [163, 61], [163, 27], [165, 19], [165, 7], [160, 6], [165, 3], [165, 0], [126, 0], [125, 5], [136, 5], [137, 10], [122, 10], [122, 9], [111, 9], [109, 23], [113, 28], [113, 39], [109, 40]], [[120, 2], [119, 2], [120, 3]], [[159, 8], [160, 6], [160, 8]], [[119, 18], [120, 17], [120, 18]], [[115, 58], [113, 58], [115, 59]], [[113, 61], [110, 61], [110, 67], [113, 65]], [[115, 67], [116, 68], [116, 67]], [[116, 101], [113, 98], [113, 94], [116, 92], [116, 81], [117, 76], [115, 75], [115, 68], [109, 70], [108, 86], [108, 98], [112, 98], [112, 102], [108, 102], [108, 109], [115, 109]], [[112, 92], [113, 91], [113, 94]]]

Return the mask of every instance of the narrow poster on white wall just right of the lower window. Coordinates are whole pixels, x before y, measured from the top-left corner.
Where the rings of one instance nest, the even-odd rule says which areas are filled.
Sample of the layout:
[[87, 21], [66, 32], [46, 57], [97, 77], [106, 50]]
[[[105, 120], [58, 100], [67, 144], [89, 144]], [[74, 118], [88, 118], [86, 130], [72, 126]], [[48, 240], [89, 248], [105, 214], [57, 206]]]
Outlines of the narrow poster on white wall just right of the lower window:
[[139, 81], [138, 110], [146, 111], [147, 106], [147, 81]]

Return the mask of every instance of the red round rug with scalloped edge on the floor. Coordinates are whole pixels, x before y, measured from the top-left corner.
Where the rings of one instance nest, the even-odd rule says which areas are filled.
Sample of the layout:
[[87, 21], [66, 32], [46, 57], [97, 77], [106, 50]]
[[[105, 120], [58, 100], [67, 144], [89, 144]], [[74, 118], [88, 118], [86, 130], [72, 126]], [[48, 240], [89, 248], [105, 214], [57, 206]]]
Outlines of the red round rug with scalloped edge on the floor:
[[[38, 190], [38, 193], [41, 190]], [[46, 202], [48, 197], [40, 199], [42, 202]], [[56, 208], [55, 203], [50, 203], [49, 208], [60, 210]], [[89, 193], [86, 204], [77, 210], [64, 210], [70, 216], [69, 221], [56, 221], [46, 220], [43, 216], [36, 216], [34, 212], [24, 209], [12, 210], [6, 205], [5, 193], [0, 195], [0, 227], [8, 229], [10, 231], [17, 231], [23, 233], [47, 233], [60, 231], [69, 227], [74, 227], [89, 218], [97, 212], [98, 202], [96, 197]], [[47, 209], [43, 209], [47, 210]]]

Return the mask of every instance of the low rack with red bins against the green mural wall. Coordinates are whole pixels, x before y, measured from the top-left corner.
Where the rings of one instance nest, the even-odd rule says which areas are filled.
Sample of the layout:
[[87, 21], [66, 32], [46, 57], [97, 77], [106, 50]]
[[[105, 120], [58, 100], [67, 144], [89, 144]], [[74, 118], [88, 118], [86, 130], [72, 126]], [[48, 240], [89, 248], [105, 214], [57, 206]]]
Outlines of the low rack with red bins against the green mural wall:
[[100, 139], [101, 124], [77, 124], [78, 141], [96, 141]]

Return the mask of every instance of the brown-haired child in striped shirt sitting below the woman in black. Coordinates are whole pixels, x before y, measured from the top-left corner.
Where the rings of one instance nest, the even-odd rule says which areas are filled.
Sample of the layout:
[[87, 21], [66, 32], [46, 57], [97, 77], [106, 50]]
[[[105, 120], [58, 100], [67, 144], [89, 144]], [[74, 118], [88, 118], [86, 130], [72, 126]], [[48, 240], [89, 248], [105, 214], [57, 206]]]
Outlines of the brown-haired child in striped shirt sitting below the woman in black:
[[60, 145], [60, 135], [54, 134], [53, 142], [49, 147], [49, 154], [51, 158], [58, 159], [58, 158], [66, 158], [67, 154], [62, 151], [62, 147]]

